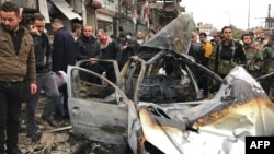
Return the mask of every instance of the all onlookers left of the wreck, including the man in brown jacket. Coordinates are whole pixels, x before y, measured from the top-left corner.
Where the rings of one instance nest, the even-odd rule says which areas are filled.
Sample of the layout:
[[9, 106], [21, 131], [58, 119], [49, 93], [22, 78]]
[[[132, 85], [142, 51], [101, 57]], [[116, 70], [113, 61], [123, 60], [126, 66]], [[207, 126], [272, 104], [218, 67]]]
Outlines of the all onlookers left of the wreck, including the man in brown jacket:
[[[72, 28], [67, 29], [59, 19], [52, 20], [49, 31], [41, 13], [33, 13], [30, 21], [23, 22], [19, 5], [11, 1], [2, 3], [0, 15], [0, 154], [21, 153], [18, 132], [23, 100], [26, 103], [26, 135], [33, 141], [39, 140], [42, 134], [35, 117], [41, 92], [46, 97], [42, 119], [58, 127], [56, 116], [70, 118], [67, 85], [57, 82], [64, 78], [68, 66], [87, 60], [80, 67], [104, 73], [115, 83], [113, 66], [99, 59], [116, 60], [122, 69], [146, 42], [142, 32], [137, 32], [135, 39], [123, 32], [116, 38], [92, 25], [73, 23]], [[153, 34], [156, 32], [150, 29], [148, 37]], [[96, 82], [89, 75], [81, 78]]]

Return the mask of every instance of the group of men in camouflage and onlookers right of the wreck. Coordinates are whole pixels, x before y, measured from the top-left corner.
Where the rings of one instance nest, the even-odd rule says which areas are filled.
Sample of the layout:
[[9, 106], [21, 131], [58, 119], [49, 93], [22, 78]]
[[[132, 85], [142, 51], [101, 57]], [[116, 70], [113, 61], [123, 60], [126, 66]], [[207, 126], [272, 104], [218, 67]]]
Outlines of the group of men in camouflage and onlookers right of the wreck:
[[[235, 39], [232, 31], [230, 26], [224, 26], [212, 40], [207, 40], [206, 33], [194, 32], [189, 54], [196, 62], [222, 78], [236, 66], [242, 66], [261, 83], [274, 102], [274, 35], [261, 32], [255, 37], [253, 32], [248, 32], [240, 39]], [[203, 88], [204, 98], [207, 98], [208, 92], [218, 90], [214, 80], [208, 81], [208, 78], [199, 74], [199, 71], [195, 73], [198, 76], [198, 85]]]

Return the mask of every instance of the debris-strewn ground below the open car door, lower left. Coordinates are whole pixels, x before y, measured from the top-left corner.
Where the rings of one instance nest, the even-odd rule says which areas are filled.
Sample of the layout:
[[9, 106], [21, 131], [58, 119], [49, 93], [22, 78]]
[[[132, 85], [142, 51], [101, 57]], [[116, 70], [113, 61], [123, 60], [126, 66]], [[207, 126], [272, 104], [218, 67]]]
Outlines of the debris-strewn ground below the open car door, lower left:
[[25, 103], [22, 105], [19, 147], [23, 154], [114, 154], [116, 145], [88, 141], [71, 133], [70, 120], [56, 116], [58, 128], [49, 126], [41, 118], [45, 96], [42, 94], [36, 109], [36, 123], [42, 132], [37, 142], [26, 137]]

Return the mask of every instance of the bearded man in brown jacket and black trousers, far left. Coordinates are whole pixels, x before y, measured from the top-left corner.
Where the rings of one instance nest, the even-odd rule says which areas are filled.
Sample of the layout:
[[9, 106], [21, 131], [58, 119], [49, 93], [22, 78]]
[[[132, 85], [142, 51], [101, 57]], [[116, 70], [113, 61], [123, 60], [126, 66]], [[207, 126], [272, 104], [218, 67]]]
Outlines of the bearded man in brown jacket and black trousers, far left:
[[[19, 116], [23, 98], [23, 78], [30, 79], [30, 93], [36, 93], [36, 70], [33, 38], [20, 25], [18, 4], [1, 5], [0, 24], [0, 154], [21, 154], [18, 147]], [[7, 132], [7, 140], [5, 133]]]

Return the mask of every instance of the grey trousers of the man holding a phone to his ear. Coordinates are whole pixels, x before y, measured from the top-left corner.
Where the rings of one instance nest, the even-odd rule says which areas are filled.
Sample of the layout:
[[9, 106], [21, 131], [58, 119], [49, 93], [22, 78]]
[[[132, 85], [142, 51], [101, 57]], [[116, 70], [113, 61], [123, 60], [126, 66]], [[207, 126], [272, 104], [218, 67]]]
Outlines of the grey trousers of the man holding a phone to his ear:
[[[26, 82], [27, 83], [27, 82]], [[55, 104], [59, 97], [59, 91], [53, 72], [36, 74], [37, 92], [33, 95], [26, 93], [26, 131], [36, 132], [35, 110], [41, 96], [41, 90], [45, 92], [46, 100], [43, 110], [43, 117], [53, 118]], [[27, 88], [28, 87], [28, 88]], [[30, 85], [26, 84], [26, 92], [30, 92]]]

